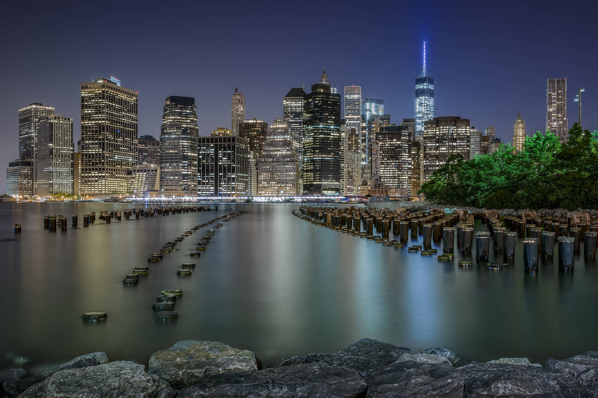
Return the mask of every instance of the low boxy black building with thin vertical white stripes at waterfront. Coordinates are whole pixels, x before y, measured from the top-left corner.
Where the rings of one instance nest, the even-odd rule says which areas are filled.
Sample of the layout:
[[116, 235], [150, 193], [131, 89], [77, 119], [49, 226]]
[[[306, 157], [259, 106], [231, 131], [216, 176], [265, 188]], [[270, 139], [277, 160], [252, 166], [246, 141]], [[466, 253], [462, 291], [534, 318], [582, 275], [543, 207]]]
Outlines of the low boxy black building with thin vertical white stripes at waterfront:
[[199, 196], [246, 196], [249, 140], [242, 137], [199, 137]]

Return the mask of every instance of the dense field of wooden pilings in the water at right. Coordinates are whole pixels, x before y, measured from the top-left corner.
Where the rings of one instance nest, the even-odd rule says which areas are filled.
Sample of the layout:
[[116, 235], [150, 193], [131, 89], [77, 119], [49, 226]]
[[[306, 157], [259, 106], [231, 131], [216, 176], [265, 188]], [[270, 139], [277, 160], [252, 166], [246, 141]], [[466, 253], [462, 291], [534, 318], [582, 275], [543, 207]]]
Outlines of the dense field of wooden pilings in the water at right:
[[[584, 243], [584, 258], [596, 258], [596, 237], [598, 235], [598, 220], [576, 221], [575, 217], [565, 218], [538, 218], [535, 212], [522, 212], [520, 218], [498, 218], [498, 211], [484, 211], [483, 222], [488, 228], [478, 231], [474, 235], [474, 217], [466, 210], [456, 210], [454, 214], [444, 214], [442, 209], [417, 212], [372, 211], [370, 209], [356, 208], [319, 208], [301, 206], [302, 218], [327, 226], [331, 229], [341, 230], [351, 235], [367, 237], [377, 242], [398, 243], [389, 240], [390, 227], [392, 233], [400, 236], [400, 241], [405, 243], [409, 237], [417, 239], [423, 237], [423, 248], [429, 248], [432, 240], [443, 242], [444, 255], [438, 260], [450, 260], [454, 255], [455, 235], [457, 248], [463, 253], [471, 252], [475, 236], [475, 258], [488, 260], [490, 253], [490, 240], [493, 242], [493, 251], [502, 252], [504, 261], [515, 260], [515, 246], [518, 237], [523, 237], [523, 262], [524, 269], [530, 272], [538, 271], [539, 254], [545, 260], [550, 260], [554, 255], [554, 244], [559, 245], [559, 270], [573, 271], [574, 254], [579, 252], [580, 242]], [[529, 216], [529, 217], [528, 217]], [[361, 232], [361, 224], [365, 232]], [[376, 232], [382, 236], [374, 236]], [[402, 248], [402, 244], [394, 244], [395, 248]], [[421, 246], [413, 246], [410, 251], [418, 251]], [[413, 249], [413, 250], [412, 250]], [[417, 250], [416, 250], [417, 249]], [[422, 255], [429, 255], [431, 251], [422, 251]], [[466, 262], [466, 261], [464, 261]], [[460, 261], [461, 263], [461, 261]], [[488, 264], [491, 269], [501, 269], [507, 263]]]

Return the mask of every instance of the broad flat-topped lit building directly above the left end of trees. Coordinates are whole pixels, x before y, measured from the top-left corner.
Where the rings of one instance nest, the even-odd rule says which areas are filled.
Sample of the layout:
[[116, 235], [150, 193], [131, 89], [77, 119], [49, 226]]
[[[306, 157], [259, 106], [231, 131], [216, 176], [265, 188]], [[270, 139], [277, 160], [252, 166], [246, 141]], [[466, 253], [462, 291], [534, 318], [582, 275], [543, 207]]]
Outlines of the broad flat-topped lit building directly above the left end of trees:
[[451, 155], [459, 153], [469, 160], [471, 144], [469, 119], [459, 116], [440, 116], [426, 121], [423, 131], [424, 177], [428, 181], [432, 173], [445, 165]]

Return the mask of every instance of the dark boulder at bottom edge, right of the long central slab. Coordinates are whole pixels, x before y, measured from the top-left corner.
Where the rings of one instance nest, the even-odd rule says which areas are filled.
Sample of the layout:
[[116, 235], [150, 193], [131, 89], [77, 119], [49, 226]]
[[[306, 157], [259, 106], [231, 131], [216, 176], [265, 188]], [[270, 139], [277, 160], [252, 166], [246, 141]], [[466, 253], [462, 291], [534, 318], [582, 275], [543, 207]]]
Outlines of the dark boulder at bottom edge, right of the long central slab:
[[370, 372], [368, 398], [462, 398], [463, 374], [447, 360], [442, 363], [395, 362]]

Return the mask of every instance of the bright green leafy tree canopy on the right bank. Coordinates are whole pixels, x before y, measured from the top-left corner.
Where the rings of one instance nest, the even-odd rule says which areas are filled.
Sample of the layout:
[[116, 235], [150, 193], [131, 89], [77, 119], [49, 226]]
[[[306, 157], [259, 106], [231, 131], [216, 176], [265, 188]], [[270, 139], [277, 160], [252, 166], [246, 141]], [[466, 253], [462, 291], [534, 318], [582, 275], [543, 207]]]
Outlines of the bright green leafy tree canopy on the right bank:
[[419, 193], [454, 206], [598, 209], [598, 134], [574, 124], [565, 144], [547, 131], [526, 137], [517, 154], [501, 144], [469, 161], [453, 155]]

